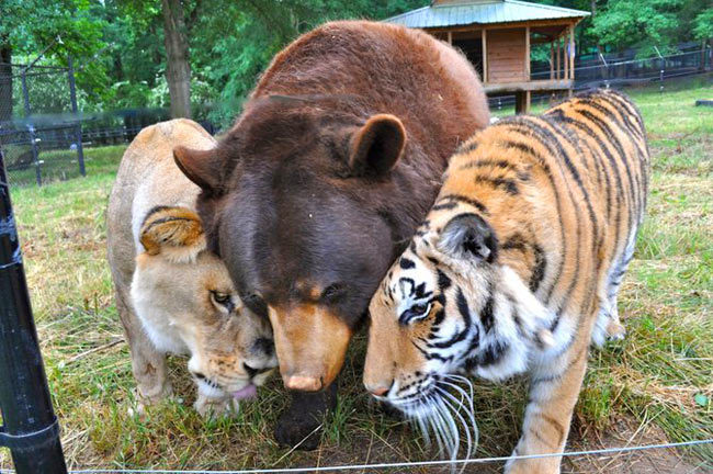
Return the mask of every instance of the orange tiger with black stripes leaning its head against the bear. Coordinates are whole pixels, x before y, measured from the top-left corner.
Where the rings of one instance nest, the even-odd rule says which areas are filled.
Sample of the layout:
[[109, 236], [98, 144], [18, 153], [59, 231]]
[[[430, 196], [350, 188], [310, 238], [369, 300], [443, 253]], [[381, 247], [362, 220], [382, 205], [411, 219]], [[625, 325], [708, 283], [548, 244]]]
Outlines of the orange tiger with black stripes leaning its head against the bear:
[[[527, 374], [505, 472], [559, 472], [589, 348], [625, 332], [616, 294], [648, 176], [642, 115], [613, 90], [477, 132], [370, 303], [366, 390], [430, 424], [455, 458], [453, 416], [466, 420], [452, 391], [468, 398], [456, 383]], [[469, 410], [474, 425], [472, 397]]]

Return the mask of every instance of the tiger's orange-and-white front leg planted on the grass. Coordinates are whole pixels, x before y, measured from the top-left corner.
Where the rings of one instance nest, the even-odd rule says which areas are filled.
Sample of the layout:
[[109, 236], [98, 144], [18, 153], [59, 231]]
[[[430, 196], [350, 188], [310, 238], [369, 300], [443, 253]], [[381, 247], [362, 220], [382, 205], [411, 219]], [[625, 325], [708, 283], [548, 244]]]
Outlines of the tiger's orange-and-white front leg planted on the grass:
[[[575, 349], [576, 348], [576, 349]], [[534, 368], [522, 435], [512, 456], [561, 453], [569, 433], [571, 414], [587, 368], [589, 345], [577, 340], [551, 363]], [[553, 370], [553, 368], [557, 368]], [[517, 460], [506, 463], [506, 474], [556, 474], [561, 456]]]

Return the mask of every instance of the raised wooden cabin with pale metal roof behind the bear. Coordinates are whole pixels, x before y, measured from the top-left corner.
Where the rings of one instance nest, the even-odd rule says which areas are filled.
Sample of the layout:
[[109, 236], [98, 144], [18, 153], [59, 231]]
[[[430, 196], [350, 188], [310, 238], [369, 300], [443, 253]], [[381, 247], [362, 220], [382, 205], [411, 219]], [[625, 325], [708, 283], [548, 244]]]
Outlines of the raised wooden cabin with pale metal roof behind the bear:
[[[530, 94], [569, 91], [575, 79], [575, 26], [581, 10], [519, 0], [434, 0], [386, 22], [421, 29], [460, 48], [490, 97], [516, 95], [516, 112], [530, 110]], [[532, 80], [531, 49], [550, 44], [550, 78]]]

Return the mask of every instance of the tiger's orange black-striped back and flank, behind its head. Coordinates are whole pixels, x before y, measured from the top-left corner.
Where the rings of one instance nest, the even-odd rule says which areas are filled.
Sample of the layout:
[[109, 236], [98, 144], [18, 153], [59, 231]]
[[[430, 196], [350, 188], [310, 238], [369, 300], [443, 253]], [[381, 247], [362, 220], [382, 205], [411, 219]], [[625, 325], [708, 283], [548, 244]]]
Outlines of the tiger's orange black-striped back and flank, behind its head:
[[[485, 155], [494, 159], [484, 159]], [[546, 198], [543, 202], [520, 201], [519, 189], [527, 187], [518, 181], [529, 169], [537, 170], [532, 179], [541, 198]], [[644, 217], [648, 169], [644, 123], [636, 106], [619, 92], [595, 90], [541, 116], [506, 119], [476, 134], [451, 159], [439, 200], [499, 193], [491, 214], [507, 228], [521, 229], [508, 234], [511, 239], [503, 242], [503, 250], [512, 250], [513, 260], [522, 258], [513, 262], [516, 267], [537, 262], [529, 266], [530, 289], [559, 315], [586, 311], [596, 304], [596, 296], [602, 318], [592, 338], [601, 346], [607, 336], [623, 335], [616, 291]], [[557, 215], [546, 223], [532, 222], [530, 215], [553, 212]], [[548, 241], [537, 238], [547, 234]], [[521, 240], [530, 245], [519, 245]], [[545, 253], [559, 255], [547, 261]], [[595, 287], [597, 295], [586, 294]]]

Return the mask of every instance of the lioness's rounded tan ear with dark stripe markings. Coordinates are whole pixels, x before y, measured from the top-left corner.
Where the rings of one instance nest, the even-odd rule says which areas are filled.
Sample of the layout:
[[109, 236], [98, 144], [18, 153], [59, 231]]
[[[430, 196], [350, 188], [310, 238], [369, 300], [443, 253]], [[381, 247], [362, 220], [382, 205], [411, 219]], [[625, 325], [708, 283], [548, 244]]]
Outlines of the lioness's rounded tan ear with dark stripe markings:
[[154, 207], [144, 218], [139, 240], [146, 253], [186, 263], [206, 248], [201, 218], [186, 207]]

